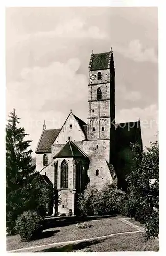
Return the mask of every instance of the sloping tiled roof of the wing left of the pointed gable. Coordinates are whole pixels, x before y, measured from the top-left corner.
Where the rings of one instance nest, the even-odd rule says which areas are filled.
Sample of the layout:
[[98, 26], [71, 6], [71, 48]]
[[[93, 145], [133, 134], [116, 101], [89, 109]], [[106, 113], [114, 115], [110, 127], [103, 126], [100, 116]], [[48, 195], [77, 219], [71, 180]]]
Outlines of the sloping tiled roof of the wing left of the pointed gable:
[[44, 130], [36, 148], [36, 153], [51, 153], [51, 145], [58, 136], [61, 129]]

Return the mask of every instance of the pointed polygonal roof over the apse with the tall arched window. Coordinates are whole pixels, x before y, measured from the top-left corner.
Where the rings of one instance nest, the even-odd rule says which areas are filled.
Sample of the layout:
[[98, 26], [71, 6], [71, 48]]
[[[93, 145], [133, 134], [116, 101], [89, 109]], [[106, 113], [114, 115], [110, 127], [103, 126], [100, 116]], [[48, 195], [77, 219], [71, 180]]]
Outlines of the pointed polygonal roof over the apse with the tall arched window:
[[68, 141], [64, 147], [56, 154], [56, 157], [88, 157], [73, 141]]

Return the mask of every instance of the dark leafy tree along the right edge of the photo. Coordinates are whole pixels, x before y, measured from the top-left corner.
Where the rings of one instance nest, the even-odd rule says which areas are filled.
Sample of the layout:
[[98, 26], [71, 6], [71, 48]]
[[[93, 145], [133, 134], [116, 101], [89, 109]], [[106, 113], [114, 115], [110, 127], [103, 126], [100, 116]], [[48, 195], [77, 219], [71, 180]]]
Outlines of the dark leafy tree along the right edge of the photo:
[[145, 223], [146, 237], [159, 233], [159, 145], [150, 142], [142, 152], [139, 145], [132, 145], [134, 164], [127, 176], [127, 194], [135, 210], [136, 220]]

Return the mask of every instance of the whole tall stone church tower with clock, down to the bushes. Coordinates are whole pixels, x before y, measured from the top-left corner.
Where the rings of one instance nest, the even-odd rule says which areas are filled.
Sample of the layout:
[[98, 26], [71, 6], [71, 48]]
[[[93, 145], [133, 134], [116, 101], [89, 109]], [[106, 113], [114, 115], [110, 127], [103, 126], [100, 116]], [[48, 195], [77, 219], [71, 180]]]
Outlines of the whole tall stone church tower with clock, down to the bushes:
[[90, 183], [111, 182], [110, 164], [115, 152], [115, 69], [112, 48], [92, 52], [89, 63], [87, 140]]

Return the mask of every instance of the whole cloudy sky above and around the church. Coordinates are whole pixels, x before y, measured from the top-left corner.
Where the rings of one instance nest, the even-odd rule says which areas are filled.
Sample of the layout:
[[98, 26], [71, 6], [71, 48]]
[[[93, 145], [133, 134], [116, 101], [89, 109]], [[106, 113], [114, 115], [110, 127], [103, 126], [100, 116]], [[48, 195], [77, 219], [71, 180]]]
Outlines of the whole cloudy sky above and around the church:
[[140, 118], [143, 146], [156, 139], [157, 12], [157, 7], [6, 9], [6, 116], [16, 109], [33, 151], [43, 120], [47, 129], [59, 128], [72, 109], [86, 122], [90, 55], [110, 47], [116, 122]]

